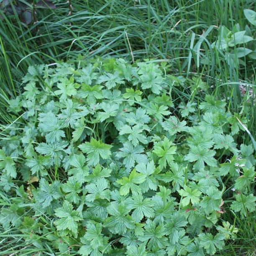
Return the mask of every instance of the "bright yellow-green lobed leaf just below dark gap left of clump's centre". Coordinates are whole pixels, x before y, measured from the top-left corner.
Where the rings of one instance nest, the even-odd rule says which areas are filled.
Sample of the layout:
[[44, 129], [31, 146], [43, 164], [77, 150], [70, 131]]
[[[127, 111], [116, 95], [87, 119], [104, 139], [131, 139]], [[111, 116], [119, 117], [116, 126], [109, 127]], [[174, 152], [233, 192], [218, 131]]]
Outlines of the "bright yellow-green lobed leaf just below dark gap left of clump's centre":
[[87, 154], [87, 162], [89, 165], [96, 165], [102, 159], [108, 159], [111, 155], [111, 145], [105, 144], [102, 141], [97, 141], [92, 138], [90, 142], [85, 142], [78, 146], [83, 153]]

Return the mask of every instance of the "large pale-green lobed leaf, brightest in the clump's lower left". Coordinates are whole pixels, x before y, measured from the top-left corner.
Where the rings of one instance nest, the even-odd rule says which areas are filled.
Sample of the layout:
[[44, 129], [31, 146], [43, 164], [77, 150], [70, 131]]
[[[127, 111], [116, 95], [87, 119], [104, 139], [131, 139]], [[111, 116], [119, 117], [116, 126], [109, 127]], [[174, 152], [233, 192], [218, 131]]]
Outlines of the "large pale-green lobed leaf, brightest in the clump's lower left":
[[62, 207], [55, 210], [55, 215], [59, 217], [59, 219], [55, 221], [57, 230], [68, 229], [74, 234], [74, 237], [77, 237], [77, 222], [82, 220], [82, 218], [79, 217], [77, 210], [73, 210], [72, 204], [65, 200]]

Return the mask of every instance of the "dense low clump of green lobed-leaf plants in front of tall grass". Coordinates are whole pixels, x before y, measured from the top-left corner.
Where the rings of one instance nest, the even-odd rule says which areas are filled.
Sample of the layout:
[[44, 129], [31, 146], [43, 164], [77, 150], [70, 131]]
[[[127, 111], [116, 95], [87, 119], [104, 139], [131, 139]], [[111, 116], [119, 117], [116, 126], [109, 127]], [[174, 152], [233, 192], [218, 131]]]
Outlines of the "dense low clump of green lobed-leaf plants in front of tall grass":
[[250, 102], [231, 113], [200, 77], [169, 68], [28, 68], [0, 141], [2, 254], [253, 253]]

